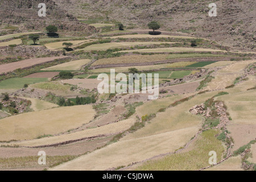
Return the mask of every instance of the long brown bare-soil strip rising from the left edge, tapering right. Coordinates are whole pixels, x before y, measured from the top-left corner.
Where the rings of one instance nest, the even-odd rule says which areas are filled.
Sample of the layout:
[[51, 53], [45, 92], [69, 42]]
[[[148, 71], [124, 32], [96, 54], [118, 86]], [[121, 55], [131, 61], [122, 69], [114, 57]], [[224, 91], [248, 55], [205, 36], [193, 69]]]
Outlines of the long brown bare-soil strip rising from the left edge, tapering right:
[[65, 57], [68, 57], [68, 56], [40, 57], [40, 58], [35, 58], [35, 59], [26, 59], [26, 60], [14, 62], [14, 63], [1, 64], [0, 65], [0, 74], [11, 72], [11, 71], [14, 71], [15, 69], [19, 69], [19, 68], [31, 67], [36, 64], [47, 63], [47, 62], [53, 61], [55, 59], [63, 59]]

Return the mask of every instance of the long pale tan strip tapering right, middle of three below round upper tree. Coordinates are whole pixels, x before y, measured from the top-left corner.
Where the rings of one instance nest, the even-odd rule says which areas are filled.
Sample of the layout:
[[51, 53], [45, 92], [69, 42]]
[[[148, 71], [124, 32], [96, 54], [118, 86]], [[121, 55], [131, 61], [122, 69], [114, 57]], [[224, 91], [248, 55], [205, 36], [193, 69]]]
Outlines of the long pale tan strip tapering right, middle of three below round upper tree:
[[144, 45], [155, 45], [155, 44], [174, 44], [174, 42], [112, 42], [104, 44], [93, 44], [82, 49], [76, 49], [75, 51], [100, 51], [106, 49], [120, 48], [120, 47], [131, 47], [131, 46], [144, 46]]

